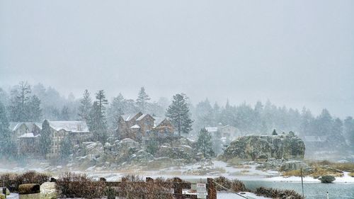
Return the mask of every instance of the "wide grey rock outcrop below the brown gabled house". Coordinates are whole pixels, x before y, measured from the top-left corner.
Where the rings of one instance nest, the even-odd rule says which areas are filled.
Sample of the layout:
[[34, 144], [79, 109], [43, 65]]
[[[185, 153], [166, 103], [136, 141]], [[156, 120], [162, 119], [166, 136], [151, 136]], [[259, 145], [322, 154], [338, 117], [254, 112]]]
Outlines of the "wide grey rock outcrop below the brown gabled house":
[[193, 142], [176, 137], [161, 140], [157, 151], [149, 153], [147, 146], [130, 138], [101, 142], [82, 142], [74, 147], [70, 169], [91, 170], [120, 169], [122, 166], [176, 166], [195, 159]]

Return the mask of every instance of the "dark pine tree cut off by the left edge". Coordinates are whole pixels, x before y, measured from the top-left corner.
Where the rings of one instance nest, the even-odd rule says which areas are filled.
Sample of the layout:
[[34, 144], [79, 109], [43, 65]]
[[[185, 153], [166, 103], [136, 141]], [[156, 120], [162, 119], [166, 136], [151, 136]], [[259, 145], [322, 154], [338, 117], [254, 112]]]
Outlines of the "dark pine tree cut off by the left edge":
[[0, 101], [0, 157], [16, 156], [16, 145], [11, 139], [11, 131], [8, 129], [9, 125], [5, 106]]

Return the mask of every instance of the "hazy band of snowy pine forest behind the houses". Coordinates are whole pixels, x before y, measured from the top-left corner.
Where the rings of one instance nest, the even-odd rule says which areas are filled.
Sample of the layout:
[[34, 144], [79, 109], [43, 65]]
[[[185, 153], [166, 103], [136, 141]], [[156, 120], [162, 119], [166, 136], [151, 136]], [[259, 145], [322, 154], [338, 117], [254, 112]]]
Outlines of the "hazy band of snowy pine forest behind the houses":
[[[120, 115], [127, 113], [149, 113], [156, 117], [170, 118], [178, 133], [193, 132], [197, 135], [200, 129], [208, 126], [233, 125], [244, 134], [294, 131], [297, 135], [327, 136], [336, 142], [337, 147], [354, 146], [354, 119], [344, 120], [333, 117], [329, 110], [313, 115], [308, 108], [297, 110], [278, 107], [267, 101], [258, 101], [254, 106], [241, 103], [238, 106], [211, 104], [208, 99], [195, 106], [183, 93], [173, 96], [172, 101], [159, 98], [152, 101], [144, 87], [137, 93], [137, 98], [125, 98], [122, 93], [111, 101], [105, 97], [105, 91], [94, 94], [85, 90], [81, 98], [75, 99], [71, 94], [62, 97], [52, 87], [37, 84], [30, 86], [21, 81], [6, 92], [0, 88], [0, 103], [4, 106], [4, 114], [8, 121], [27, 122], [48, 120], [86, 120], [90, 130], [95, 132], [97, 140], [102, 142], [117, 127]], [[194, 122], [194, 123], [193, 123]]]

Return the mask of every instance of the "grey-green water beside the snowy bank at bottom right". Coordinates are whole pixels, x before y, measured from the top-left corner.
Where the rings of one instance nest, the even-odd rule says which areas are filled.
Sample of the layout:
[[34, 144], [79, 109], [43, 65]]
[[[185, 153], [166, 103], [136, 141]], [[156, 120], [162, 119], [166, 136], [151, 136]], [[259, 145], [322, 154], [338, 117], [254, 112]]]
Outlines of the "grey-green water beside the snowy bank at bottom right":
[[[301, 183], [272, 182], [272, 181], [242, 181], [246, 187], [255, 190], [258, 187], [292, 189], [302, 194]], [[329, 192], [329, 198], [354, 198], [354, 183], [304, 183], [306, 199], [324, 199]]]

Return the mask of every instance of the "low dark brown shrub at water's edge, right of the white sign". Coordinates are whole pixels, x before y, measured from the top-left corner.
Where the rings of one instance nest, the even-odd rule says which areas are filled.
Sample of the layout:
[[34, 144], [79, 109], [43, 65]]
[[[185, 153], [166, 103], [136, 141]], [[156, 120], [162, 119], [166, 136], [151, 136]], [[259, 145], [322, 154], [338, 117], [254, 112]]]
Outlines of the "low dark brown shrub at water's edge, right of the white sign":
[[268, 198], [292, 198], [292, 199], [304, 199], [302, 195], [293, 190], [279, 190], [275, 188], [260, 187], [256, 189], [256, 194], [265, 196]]

